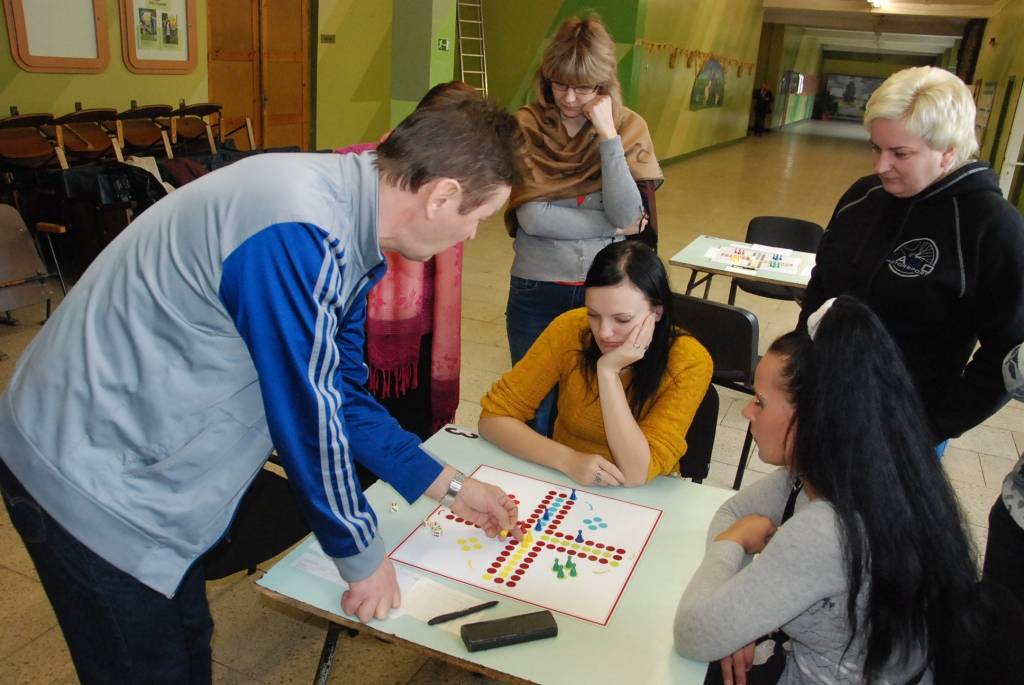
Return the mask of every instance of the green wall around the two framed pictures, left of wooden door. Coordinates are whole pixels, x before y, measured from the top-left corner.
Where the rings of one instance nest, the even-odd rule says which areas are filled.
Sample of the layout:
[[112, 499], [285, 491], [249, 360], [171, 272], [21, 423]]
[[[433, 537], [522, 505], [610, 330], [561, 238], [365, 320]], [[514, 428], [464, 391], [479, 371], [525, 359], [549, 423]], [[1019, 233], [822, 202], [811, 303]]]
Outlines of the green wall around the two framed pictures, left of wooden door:
[[[216, 0], [214, 0], [216, 1]], [[196, 0], [193, 29], [197, 32], [196, 70], [181, 76], [155, 76], [132, 74], [124, 66], [121, 54], [120, 3], [106, 1], [108, 42], [111, 60], [101, 74], [35, 74], [23, 72], [10, 56], [7, 25], [0, 15], [0, 116], [7, 115], [7, 108], [17, 105], [22, 114], [50, 112], [62, 115], [75, 109], [75, 102], [84, 108], [108, 106], [127, 110], [131, 100], [139, 104], [164, 103], [177, 105], [184, 98], [188, 102], [205, 102], [209, 89], [206, 70], [206, 4]], [[54, 20], [59, 20], [59, 17]]]

